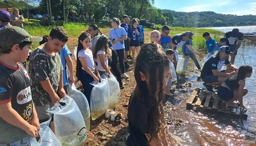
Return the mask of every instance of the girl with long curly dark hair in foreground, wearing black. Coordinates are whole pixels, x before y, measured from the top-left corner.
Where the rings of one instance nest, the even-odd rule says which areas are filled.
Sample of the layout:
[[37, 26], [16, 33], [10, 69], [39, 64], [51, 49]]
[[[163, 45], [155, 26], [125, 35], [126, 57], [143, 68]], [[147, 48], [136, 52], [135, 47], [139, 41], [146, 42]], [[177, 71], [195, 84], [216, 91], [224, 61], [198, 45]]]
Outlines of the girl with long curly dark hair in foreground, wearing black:
[[158, 49], [155, 42], [144, 44], [134, 69], [137, 86], [129, 101], [130, 135], [126, 146], [168, 146], [162, 101], [169, 75], [167, 55]]

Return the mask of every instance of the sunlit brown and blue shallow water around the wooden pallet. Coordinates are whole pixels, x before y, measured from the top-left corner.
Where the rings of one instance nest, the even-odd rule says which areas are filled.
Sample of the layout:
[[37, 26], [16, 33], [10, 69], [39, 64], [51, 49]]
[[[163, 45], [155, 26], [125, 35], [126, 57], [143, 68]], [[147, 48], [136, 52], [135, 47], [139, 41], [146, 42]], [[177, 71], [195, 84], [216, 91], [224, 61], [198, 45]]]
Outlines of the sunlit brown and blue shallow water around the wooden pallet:
[[[250, 65], [253, 67], [251, 78], [246, 78], [245, 87], [248, 94], [244, 96], [248, 118], [242, 120], [237, 116], [224, 113], [211, 113], [209, 110], [195, 109], [181, 111], [183, 127], [170, 126], [170, 132], [182, 138], [182, 144], [188, 146], [256, 146], [256, 47], [242, 46], [235, 60], [237, 67]], [[196, 75], [197, 76], [197, 75]], [[197, 77], [189, 78], [193, 87], [202, 87]], [[186, 93], [184, 101], [190, 97]]]

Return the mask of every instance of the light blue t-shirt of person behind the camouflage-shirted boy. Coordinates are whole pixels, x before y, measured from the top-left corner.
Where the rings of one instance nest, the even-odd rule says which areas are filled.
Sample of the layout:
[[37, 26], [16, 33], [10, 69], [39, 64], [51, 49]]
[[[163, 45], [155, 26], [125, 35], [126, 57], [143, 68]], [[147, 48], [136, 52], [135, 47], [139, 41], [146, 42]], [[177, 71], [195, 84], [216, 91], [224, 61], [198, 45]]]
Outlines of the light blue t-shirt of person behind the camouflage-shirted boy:
[[60, 54], [61, 54], [61, 63], [63, 66], [63, 86], [67, 86], [69, 85], [69, 81], [68, 81], [68, 66], [67, 66], [66, 57], [68, 55], [70, 55], [71, 57], [72, 53], [69, 51], [68, 46], [65, 44], [64, 48], [60, 50]]

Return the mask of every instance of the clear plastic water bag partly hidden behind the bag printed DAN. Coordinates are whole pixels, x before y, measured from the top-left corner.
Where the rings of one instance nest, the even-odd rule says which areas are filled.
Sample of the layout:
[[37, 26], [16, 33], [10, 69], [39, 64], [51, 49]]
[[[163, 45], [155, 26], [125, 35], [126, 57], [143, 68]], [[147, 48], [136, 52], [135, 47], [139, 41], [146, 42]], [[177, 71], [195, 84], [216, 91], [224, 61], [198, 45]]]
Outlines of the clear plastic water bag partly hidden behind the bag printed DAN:
[[74, 99], [79, 107], [85, 122], [87, 131], [90, 131], [90, 107], [84, 93], [77, 90], [75, 84], [69, 85], [69, 96]]

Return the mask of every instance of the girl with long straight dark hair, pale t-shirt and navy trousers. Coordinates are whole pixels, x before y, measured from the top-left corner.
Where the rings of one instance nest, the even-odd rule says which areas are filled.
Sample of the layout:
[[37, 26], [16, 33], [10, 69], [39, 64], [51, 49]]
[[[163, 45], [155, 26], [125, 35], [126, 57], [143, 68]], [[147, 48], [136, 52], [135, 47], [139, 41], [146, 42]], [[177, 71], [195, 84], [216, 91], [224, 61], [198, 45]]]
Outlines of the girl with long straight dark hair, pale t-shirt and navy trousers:
[[81, 81], [84, 88], [84, 95], [90, 106], [92, 81], [99, 82], [100, 74], [93, 59], [93, 52], [89, 49], [91, 45], [91, 37], [88, 33], [82, 33], [78, 38], [77, 61], [76, 61], [76, 77]]

